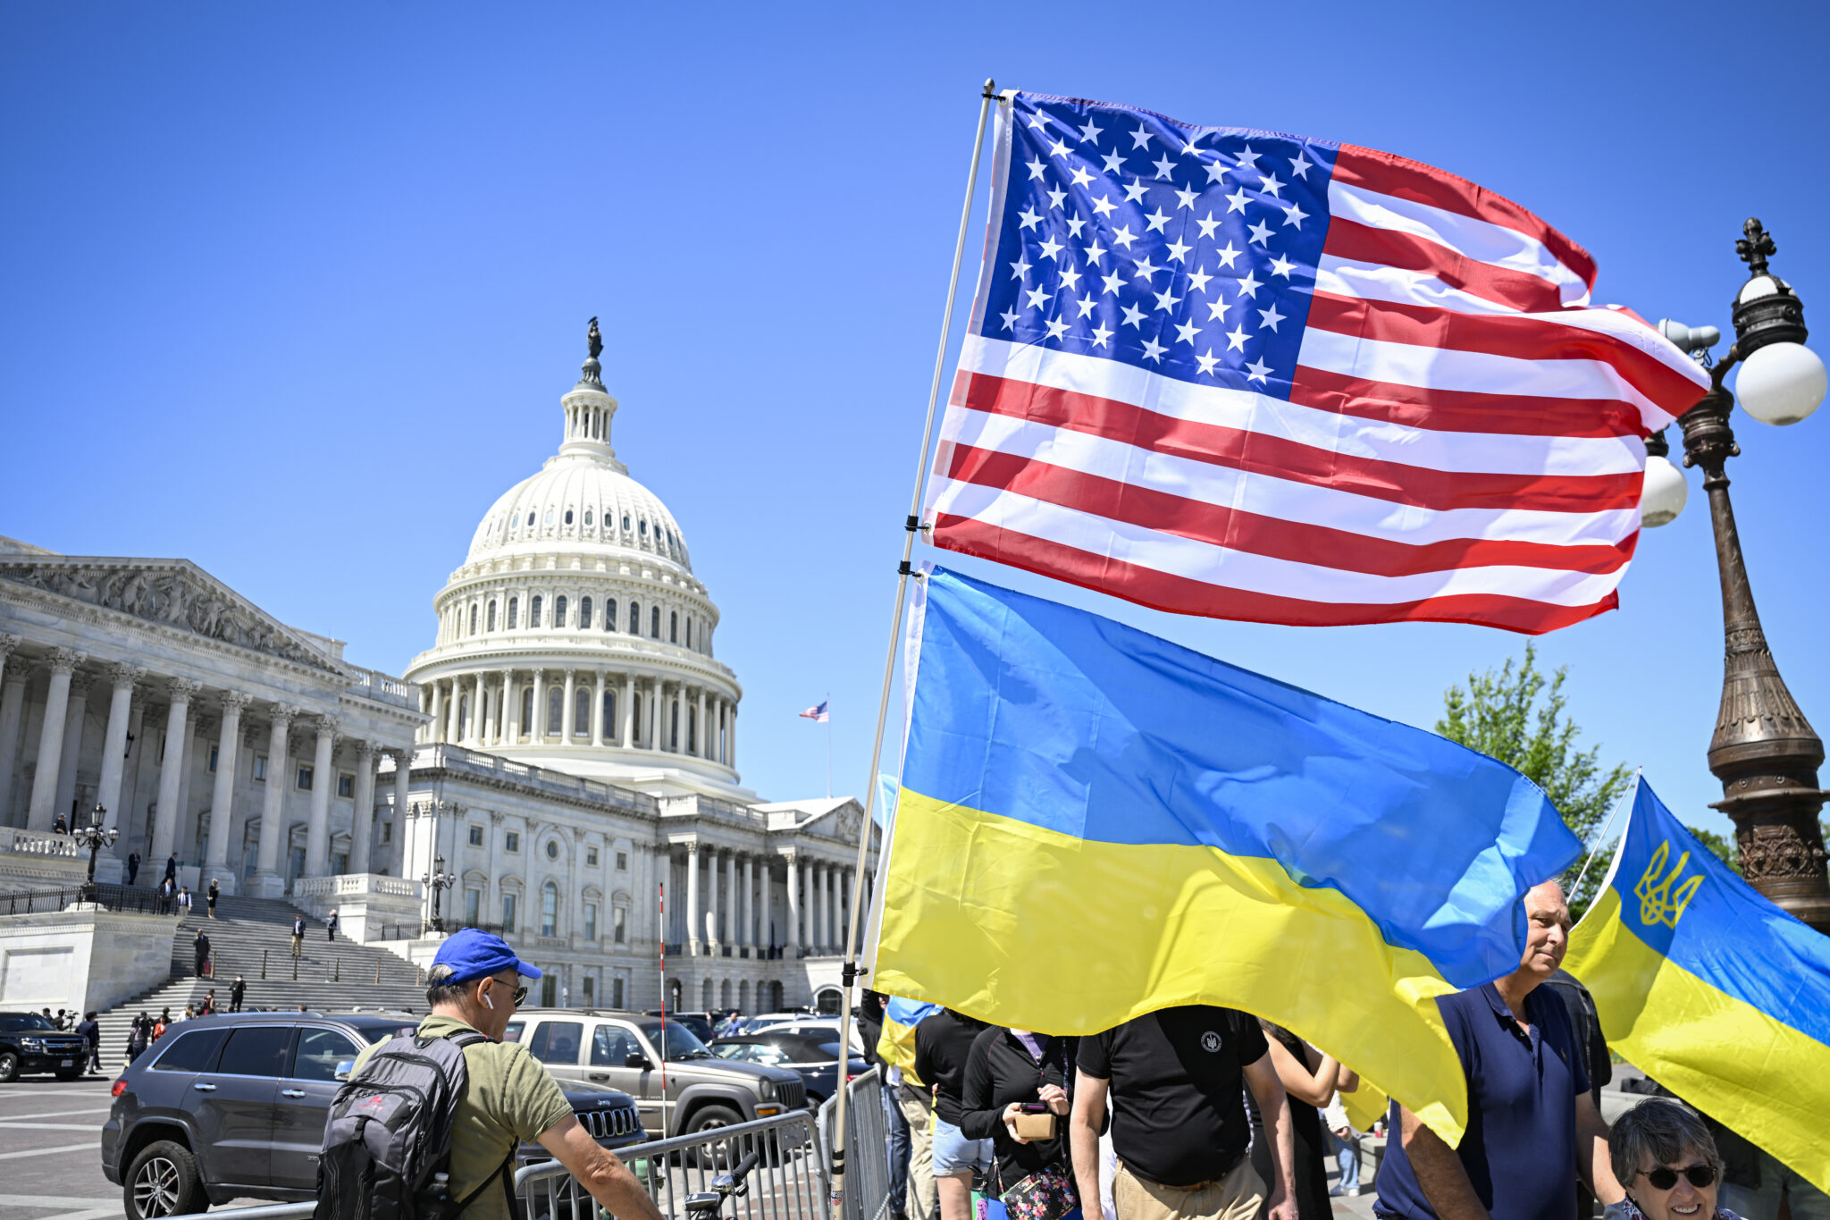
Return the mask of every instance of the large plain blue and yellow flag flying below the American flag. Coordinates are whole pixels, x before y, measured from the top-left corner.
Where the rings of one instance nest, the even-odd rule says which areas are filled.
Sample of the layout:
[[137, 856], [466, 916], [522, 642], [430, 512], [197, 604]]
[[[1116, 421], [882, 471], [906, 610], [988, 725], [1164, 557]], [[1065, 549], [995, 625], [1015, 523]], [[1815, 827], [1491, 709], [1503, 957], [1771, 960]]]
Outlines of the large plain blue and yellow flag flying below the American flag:
[[1047, 1033], [1243, 1008], [1460, 1140], [1435, 997], [1519, 966], [1579, 849], [1532, 781], [942, 569], [908, 649], [871, 986]]

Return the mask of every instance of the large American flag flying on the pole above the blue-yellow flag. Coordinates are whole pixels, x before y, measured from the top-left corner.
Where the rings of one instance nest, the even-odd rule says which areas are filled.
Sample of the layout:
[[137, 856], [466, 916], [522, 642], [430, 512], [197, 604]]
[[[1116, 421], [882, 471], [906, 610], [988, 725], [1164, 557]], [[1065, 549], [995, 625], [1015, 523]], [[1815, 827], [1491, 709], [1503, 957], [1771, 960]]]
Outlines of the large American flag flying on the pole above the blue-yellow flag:
[[1612, 609], [1704, 373], [1519, 205], [1371, 148], [1030, 93], [926, 519], [1188, 615], [1550, 631]]

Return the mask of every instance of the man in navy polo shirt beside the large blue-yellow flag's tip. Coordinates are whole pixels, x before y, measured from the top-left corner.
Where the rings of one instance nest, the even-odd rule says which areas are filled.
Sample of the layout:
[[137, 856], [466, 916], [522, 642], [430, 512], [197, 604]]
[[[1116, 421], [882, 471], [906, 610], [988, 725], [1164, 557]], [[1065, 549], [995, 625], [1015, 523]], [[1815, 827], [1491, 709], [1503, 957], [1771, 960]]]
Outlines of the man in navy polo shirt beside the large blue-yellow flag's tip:
[[1526, 893], [1524, 916], [1519, 969], [1437, 997], [1468, 1077], [1468, 1134], [1451, 1149], [1394, 1101], [1389, 1127], [1400, 1138], [1378, 1167], [1378, 1216], [1570, 1220], [1577, 1174], [1603, 1204], [1625, 1196], [1568, 1011], [1539, 988], [1568, 946], [1563, 889], [1545, 882]]

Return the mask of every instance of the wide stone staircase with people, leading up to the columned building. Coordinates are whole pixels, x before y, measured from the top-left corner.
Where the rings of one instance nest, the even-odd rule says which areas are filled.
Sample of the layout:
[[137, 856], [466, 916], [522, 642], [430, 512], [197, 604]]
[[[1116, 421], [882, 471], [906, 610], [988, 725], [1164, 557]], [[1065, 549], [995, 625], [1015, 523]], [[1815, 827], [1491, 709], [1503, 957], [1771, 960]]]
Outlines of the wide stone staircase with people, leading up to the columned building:
[[[172, 977], [168, 982], [143, 991], [102, 1013], [102, 1066], [113, 1070], [124, 1061], [128, 1024], [141, 1011], [159, 1017], [163, 1008], [172, 1017], [185, 1004], [201, 1004], [209, 990], [216, 990], [216, 1010], [229, 1010], [229, 984], [240, 973], [247, 979], [242, 1008], [296, 1010], [300, 1004], [331, 1011], [351, 1008], [388, 1008], [425, 1013], [426, 991], [417, 971], [404, 958], [379, 946], [361, 946], [353, 940], [326, 940], [324, 924], [306, 916], [304, 955], [293, 960], [293, 920], [298, 909], [278, 898], [231, 898], [216, 904], [216, 918], [209, 918], [203, 898], [196, 911], [172, 936]], [[198, 979], [192, 969], [198, 929], [210, 938], [216, 958], [216, 977]], [[262, 971], [265, 968], [265, 979]], [[379, 979], [379, 982], [377, 982]]]

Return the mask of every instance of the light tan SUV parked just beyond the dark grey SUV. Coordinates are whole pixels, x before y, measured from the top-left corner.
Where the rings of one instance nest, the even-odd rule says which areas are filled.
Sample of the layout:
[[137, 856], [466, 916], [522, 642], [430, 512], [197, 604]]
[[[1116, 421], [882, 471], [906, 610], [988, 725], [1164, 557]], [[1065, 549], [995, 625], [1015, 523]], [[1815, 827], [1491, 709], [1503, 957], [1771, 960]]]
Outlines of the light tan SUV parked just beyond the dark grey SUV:
[[[514, 1013], [509, 1041], [547, 1065], [562, 1085], [602, 1085], [635, 1097], [650, 1136], [730, 1127], [807, 1105], [791, 1068], [719, 1059], [692, 1030], [668, 1021], [661, 1063], [661, 1019], [591, 1008], [533, 1008]], [[666, 1096], [661, 1068], [666, 1068]]]

